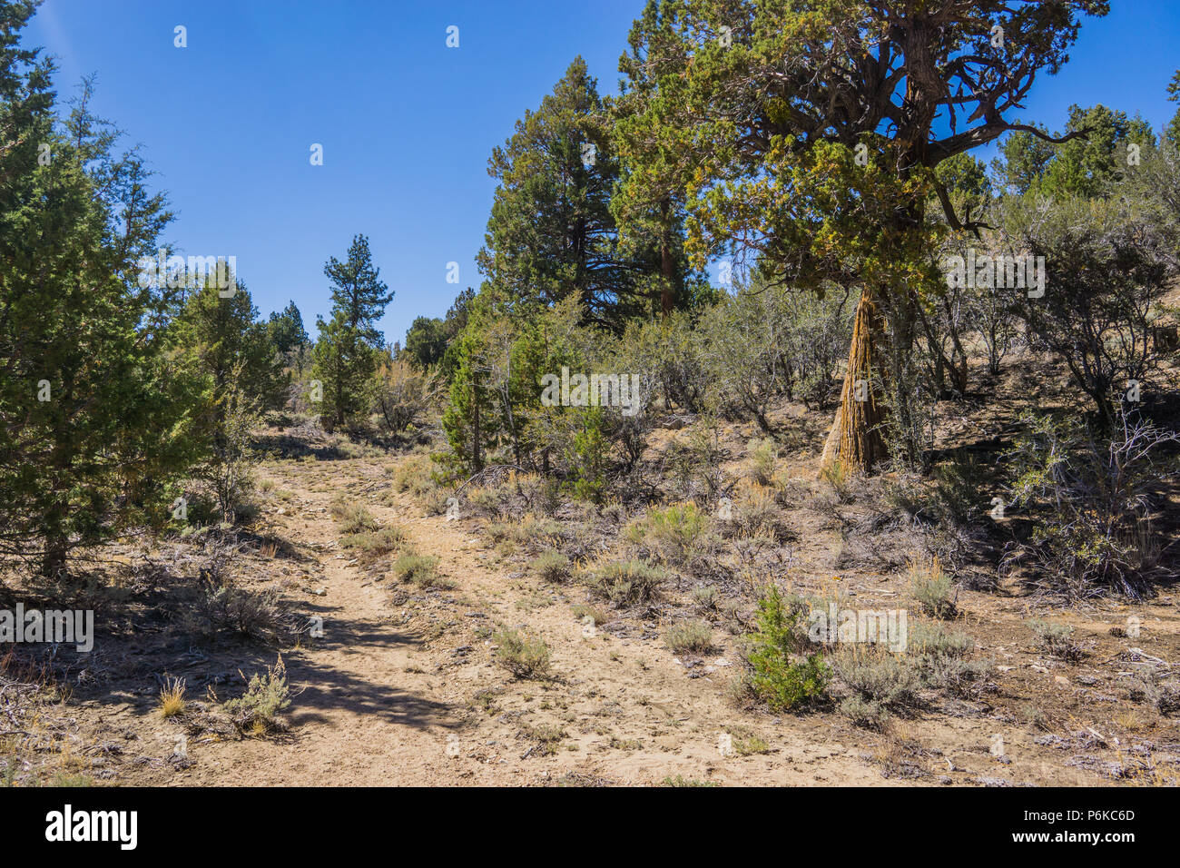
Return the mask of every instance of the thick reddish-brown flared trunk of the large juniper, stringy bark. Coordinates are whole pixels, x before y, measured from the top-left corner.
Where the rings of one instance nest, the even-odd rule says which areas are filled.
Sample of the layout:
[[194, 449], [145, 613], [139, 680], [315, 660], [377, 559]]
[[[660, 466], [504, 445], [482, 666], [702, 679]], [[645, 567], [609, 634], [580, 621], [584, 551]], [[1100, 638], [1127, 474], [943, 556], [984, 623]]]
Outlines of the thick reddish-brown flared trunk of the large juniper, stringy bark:
[[880, 432], [883, 411], [877, 396], [879, 384], [873, 383], [881, 332], [880, 311], [873, 299], [873, 291], [866, 288], [857, 304], [840, 409], [824, 446], [821, 470], [843, 464], [846, 471], [867, 472], [886, 456], [885, 439]]

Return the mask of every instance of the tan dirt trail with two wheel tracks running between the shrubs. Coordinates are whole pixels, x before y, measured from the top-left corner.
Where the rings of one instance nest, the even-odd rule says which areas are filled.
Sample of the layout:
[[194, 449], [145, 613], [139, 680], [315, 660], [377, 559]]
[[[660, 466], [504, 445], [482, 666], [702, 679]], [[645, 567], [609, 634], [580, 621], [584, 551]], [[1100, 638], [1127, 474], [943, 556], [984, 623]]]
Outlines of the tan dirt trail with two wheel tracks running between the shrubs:
[[[564, 588], [505, 573], [479, 539], [408, 496], [372, 492], [387, 476], [363, 461], [333, 462], [330, 488], [312, 469], [271, 465], [295, 497], [275, 529], [323, 569], [309, 595], [324, 637], [287, 661], [295, 690], [289, 737], [192, 745], [177, 783], [544, 784], [883, 783], [868, 749], [833, 738], [818, 720], [761, 722], [767, 752], [723, 756], [722, 733], [748, 729], [725, 701], [732, 668], [719, 659], [689, 672], [654, 635], [584, 635]], [[336, 490], [355, 492], [385, 526], [440, 559], [453, 588], [422, 593], [371, 574], [336, 548], [327, 513]], [[277, 513], [277, 510], [276, 510]], [[493, 661], [491, 629], [524, 627], [552, 652], [555, 678], [517, 681]], [[699, 677], [691, 677], [699, 674]], [[734, 729], [738, 727], [738, 729]]]

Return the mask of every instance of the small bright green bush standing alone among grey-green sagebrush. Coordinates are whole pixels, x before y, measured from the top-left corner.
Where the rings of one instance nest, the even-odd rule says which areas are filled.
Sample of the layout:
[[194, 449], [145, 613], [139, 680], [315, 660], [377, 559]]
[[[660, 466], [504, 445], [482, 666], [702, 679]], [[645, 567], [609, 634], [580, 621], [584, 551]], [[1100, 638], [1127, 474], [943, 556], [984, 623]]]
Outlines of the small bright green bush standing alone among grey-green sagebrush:
[[774, 586], [758, 602], [758, 631], [750, 635], [747, 661], [754, 693], [772, 711], [791, 711], [824, 697], [828, 667], [807, 648], [807, 606], [784, 598]]

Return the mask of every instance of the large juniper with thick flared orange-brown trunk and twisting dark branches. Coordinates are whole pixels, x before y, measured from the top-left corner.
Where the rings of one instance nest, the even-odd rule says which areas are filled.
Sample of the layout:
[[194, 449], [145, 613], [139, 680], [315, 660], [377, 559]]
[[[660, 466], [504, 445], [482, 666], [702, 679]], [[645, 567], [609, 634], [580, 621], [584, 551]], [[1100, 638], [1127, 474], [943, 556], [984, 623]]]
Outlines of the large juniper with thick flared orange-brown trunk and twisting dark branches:
[[917, 306], [940, 283], [926, 202], [965, 226], [933, 168], [1014, 130], [1045, 138], [1009, 118], [1067, 60], [1079, 15], [1107, 7], [651, 0], [635, 24], [623, 71], [642, 99], [627, 157], [661, 168], [624, 175], [635, 207], [621, 214], [683, 191], [699, 262], [728, 252], [775, 280], [859, 291], [826, 461], [864, 469], [886, 453], [883, 383], [900, 374]]

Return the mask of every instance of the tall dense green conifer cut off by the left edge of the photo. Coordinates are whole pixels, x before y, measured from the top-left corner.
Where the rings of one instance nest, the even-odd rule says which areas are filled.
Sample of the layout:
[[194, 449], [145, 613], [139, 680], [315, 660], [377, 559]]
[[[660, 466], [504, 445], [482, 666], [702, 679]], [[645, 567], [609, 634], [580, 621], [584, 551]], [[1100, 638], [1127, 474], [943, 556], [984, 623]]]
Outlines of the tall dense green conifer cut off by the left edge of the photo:
[[0, 554], [55, 576], [74, 548], [163, 523], [199, 442], [162, 339], [172, 296], [138, 280], [172, 215], [91, 80], [54, 130], [53, 66], [19, 47], [33, 8], [0, 5]]

